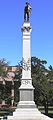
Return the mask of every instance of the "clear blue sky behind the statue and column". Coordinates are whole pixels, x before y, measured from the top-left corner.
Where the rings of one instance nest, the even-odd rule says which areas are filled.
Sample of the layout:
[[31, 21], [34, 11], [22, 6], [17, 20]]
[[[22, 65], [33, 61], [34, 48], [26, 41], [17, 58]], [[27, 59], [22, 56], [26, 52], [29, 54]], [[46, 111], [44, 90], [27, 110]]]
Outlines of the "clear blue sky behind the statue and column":
[[[22, 32], [26, 0], [0, 0], [0, 59], [15, 66], [22, 60]], [[53, 66], [53, 0], [28, 0], [30, 15], [31, 56]]]

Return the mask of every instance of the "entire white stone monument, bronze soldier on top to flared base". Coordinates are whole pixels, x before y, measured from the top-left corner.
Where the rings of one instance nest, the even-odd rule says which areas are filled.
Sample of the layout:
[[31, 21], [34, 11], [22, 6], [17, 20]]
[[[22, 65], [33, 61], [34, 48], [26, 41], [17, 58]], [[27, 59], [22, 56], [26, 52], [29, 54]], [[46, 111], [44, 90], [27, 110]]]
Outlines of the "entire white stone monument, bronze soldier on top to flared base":
[[8, 116], [8, 120], [51, 120], [51, 118], [41, 114], [34, 102], [34, 87], [31, 78], [31, 55], [30, 55], [30, 12], [31, 6], [26, 2], [24, 8], [24, 24], [22, 30], [23, 52], [22, 52], [22, 78], [19, 88], [20, 100], [13, 116]]

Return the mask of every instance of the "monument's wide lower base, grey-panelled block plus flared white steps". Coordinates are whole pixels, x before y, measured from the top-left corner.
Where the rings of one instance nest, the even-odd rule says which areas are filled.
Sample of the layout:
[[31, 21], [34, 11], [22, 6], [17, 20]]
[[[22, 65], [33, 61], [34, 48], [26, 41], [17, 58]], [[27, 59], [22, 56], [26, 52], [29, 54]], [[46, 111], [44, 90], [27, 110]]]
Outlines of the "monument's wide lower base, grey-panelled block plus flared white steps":
[[13, 116], [8, 116], [7, 120], [52, 120], [48, 116], [41, 114], [36, 108], [34, 102], [34, 87], [30, 84], [21, 85], [20, 101], [17, 105], [17, 109], [13, 112]]

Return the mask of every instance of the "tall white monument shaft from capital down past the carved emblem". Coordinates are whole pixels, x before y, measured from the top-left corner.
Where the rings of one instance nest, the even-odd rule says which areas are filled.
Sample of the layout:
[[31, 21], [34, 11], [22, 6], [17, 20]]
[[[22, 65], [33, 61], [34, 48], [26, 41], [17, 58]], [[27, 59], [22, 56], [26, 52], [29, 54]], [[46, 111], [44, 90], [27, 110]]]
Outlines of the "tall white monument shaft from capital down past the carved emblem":
[[23, 35], [22, 79], [31, 79], [30, 33], [31, 33], [30, 23], [24, 23], [22, 27]]

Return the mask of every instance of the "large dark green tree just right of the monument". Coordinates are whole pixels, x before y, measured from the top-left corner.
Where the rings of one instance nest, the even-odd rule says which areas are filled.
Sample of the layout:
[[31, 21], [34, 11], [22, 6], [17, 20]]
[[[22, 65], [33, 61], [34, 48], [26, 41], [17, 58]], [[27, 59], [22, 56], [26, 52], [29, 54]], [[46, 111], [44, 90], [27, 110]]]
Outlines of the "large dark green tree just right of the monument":
[[48, 114], [51, 86], [48, 81], [48, 69], [46, 69], [45, 64], [47, 64], [46, 60], [40, 60], [36, 57], [31, 58], [35, 102], [37, 105], [44, 105], [45, 113]]

